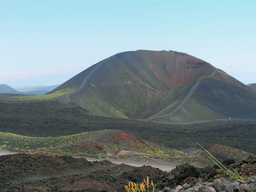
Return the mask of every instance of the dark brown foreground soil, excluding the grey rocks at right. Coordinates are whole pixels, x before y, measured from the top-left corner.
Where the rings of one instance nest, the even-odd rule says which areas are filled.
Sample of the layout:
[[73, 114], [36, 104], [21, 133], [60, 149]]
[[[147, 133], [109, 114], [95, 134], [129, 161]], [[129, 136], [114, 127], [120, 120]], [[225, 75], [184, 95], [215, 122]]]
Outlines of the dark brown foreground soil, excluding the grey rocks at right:
[[185, 164], [167, 173], [151, 166], [116, 165], [107, 160], [89, 162], [70, 156], [13, 154], [0, 156], [0, 170], [1, 192], [75, 192], [83, 189], [120, 192], [125, 191], [124, 185], [129, 181], [141, 183], [147, 176], [158, 189], [163, 189], [175, 187], [187, 177], [206, 177], [214, 168], [198, 169]]

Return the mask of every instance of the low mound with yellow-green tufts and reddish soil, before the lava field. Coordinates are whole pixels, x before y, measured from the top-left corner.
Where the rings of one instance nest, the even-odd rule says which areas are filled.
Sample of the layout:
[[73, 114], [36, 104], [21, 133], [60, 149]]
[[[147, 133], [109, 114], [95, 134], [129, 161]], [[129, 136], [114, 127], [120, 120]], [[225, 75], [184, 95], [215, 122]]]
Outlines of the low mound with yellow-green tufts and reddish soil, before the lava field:
[[90, 131], [61, 137], [27, 137], [0, 132], [0, 148], [15, 152], [49, 154], [113, 155], [123, 150], [157, 156], [186, 155], [182, 151], [148, 142], [136, 135], [118, 130]]

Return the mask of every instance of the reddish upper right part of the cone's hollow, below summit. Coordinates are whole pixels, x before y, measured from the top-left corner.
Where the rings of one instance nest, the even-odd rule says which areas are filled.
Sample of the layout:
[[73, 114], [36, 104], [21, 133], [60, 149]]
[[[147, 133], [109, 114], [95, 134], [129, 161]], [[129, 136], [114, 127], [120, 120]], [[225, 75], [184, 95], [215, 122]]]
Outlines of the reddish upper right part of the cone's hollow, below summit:
[[[150, 52], [151, 55], [154, 55], [152, 58], [146, 56], [147, 51], [137, 50], [137, 53], [145, 59], [158, 78], [171, 89], [187, 84], [214, 69], [209, 63], [184, 53], [172, 51]], [[155, 60], [158, 62], [165, 61], [166, 63], [160, 67], [155, 64]], [[168, 73], [172, 76], [168, 76]]]

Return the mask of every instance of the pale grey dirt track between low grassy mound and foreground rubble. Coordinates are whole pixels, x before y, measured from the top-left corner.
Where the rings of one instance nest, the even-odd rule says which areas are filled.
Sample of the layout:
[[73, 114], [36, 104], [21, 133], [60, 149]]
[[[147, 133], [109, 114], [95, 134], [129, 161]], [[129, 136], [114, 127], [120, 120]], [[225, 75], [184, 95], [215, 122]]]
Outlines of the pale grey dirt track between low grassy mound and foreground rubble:
[[[73, 156], [75, 157], [75, 156]], [[75, 157], [75, 158], [81, 158], [81, 157]], [[165, 172], [169, 172], [171, 171], [172, 169], [175, 169], [175, 165], [173, 166], [169, 166], [169, 165], [166, 165], [164, 163], [153, 163], [153, 162], [135, 162], [135, 161], [122, 161], [122, 160], [115, 160], [115, 159], [96, 159], [96, 158], [91, 158], [91, 157], [82, 157], [82, 158], [85, 158], [86, 160], [88, 161], [103, 161], [103, 160], [108, 160], [110, 161], [111, 163], [116, 163], [116, 164], [125, 164], [125, 165], [129, 165], [129, 166], [134, 166], [134, 167], [141, 167], [141, 166], [151, 166], [151, 167], [154, 167], [154, 168], [158, 168], [162, 171], [165, 171]]]

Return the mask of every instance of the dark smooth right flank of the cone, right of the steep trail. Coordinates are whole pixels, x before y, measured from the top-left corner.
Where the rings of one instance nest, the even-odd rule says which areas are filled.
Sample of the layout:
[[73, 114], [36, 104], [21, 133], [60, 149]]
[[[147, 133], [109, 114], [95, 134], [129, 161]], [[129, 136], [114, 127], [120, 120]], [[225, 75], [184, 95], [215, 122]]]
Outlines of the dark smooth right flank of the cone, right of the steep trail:
[[153, 122], [195, 122], [209, 119], [255, 119], [256, 92], [231, 81], [207, 77], [174, 113], [162, 111]]

